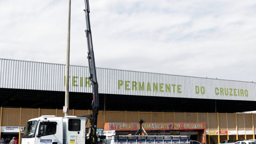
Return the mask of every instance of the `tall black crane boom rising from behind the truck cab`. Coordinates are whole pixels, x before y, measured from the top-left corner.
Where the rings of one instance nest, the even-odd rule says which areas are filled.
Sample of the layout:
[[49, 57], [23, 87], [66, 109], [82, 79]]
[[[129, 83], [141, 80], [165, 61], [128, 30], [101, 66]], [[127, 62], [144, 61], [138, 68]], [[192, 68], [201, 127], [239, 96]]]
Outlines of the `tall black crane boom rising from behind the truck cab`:
[[91, 33], [91, 25], [90, 25], [90, 9], [89, 9], [89, 2], [88, 0], [85, 0], [85, 18], [86, 18], [86, 38], [87, 38], [87, 46], [88, 46], [88, 63], [89, 63], [89, 72], [90, 76], [89, 79], [92, 84], [92, 94], [93, 94], [93, 100], [92, 100], [92, 118], [91, 118], [91, 125], [90, 125], [90, 136], [89, 140], [91, 144], [97, 144], [97, 119], [98, 119], [98, 112], [99, 112], [99, 89], [98, 89], [98, 82], [97, 82], [97, 76], [96, 76], [96, 68], [95, 68], [95, 60], [94, 60], [94, 52], [93, 52], [93, 46], [92, 46], [92, 33]]

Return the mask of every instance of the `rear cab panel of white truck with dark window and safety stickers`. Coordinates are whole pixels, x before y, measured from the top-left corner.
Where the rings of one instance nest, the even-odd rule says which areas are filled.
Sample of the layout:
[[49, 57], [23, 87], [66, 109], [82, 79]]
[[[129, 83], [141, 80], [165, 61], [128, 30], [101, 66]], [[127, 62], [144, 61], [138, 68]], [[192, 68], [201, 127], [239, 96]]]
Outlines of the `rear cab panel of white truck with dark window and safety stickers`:
[[81, 119], [68, 119], [67, 144], [85, 143], [85, 131], [81, 127], [85, 127]]

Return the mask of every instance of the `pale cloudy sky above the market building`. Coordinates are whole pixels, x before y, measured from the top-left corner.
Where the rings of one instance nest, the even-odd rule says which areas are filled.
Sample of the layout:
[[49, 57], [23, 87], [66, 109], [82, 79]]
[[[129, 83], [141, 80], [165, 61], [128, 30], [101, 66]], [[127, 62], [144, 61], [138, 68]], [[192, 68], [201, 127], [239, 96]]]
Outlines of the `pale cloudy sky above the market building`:
[[[256, 82], [255, 0], [90, 0], [96, 67]], [[88, 66], [83, 0], [70, 64]], [[66, 63], [68, 0], [0, 0], [0, 58]]]

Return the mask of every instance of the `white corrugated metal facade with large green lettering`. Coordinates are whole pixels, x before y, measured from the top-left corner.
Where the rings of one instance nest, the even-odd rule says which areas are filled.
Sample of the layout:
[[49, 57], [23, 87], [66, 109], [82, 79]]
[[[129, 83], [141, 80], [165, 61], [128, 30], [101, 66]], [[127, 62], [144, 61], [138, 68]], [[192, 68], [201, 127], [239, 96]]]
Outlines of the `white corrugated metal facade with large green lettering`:
[[[256, 101], [253, 82], [97, 68], [99, 93]], [[70, 66], [70, 91], [91, 93], [88, 67]], [[0, 88], [65, 90], [65, 65], [0, 59]]]

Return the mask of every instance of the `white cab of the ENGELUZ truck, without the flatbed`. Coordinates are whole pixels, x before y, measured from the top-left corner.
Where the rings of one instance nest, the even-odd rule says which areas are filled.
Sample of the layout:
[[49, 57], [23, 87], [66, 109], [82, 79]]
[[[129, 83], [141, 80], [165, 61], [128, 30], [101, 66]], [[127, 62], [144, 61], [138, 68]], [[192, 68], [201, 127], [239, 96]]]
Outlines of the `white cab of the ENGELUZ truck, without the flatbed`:
[[43, 115], [28, 121], [22, 144], [84, 144], [86, 118]]

